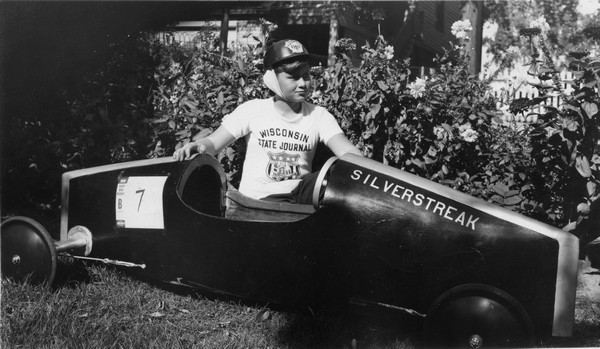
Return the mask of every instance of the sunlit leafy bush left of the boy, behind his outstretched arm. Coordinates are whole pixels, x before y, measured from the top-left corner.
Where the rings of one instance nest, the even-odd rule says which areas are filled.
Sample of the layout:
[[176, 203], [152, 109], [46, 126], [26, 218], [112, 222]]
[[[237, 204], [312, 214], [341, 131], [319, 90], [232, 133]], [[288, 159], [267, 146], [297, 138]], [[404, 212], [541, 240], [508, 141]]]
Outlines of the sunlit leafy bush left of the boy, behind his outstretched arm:
[[[263, 35], [255, 46], [238, 45], [222, 54], [214, 33], [200, 32], [195, 46], [165, 45], [156, 69], [152, 104], [156, 134], [151, 156], [170, 155], [193, 139], [216, 129], [223, 116], [239, 104], [266, 98], [257, 59], [276, 25], [261, 20]], [[245, 143], [234, 143], [219, 160], [234, 183], [239, 181]]]

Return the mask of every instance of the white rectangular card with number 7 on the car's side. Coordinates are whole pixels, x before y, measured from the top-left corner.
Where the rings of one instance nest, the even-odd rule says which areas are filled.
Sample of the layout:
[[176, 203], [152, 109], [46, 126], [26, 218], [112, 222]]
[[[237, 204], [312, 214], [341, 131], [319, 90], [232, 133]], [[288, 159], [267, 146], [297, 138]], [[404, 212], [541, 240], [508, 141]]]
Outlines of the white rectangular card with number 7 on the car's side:
[[117, 227], [164, 229], [162, 193], [167, 176], [122, 177], [117, 185]]

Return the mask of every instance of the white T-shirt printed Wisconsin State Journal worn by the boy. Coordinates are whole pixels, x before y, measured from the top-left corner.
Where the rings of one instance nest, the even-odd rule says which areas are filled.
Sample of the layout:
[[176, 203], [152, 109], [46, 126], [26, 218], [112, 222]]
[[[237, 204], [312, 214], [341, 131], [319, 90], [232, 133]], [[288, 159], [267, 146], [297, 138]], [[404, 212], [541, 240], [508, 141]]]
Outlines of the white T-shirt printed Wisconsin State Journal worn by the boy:
[[342, 133], [325, 108], [308, 102], [296, 118], [275, 110], [273, 98], [256, 99], [238, 106], [221, 123], [236, 139], [248, 137], [240, 192], [255, 199], [291, 193], [312, 171], [318, 142]]

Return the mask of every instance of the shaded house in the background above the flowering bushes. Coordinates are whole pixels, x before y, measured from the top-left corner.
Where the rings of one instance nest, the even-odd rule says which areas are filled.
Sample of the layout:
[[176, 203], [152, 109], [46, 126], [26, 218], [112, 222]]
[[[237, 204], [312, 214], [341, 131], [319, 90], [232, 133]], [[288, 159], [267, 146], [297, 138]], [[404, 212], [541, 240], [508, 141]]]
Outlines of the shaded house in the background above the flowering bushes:
[[[473, 1], [223, 2], [212, 11], [189, 14], [189, 20], [174, 23], [170, 33], [172, 40], [190, 42], [199, 30], [212, 27], [225, 48], [254, 40], [264, 18], [278, 25], [272, 39], [295, 38], [324, 64], [331, 62], [338, 39], [351, 38], [360, 48], [382, 35], [394, 47], [395, 58], [409, 57], [414, 66], [432, 67], [433, 59], [455, 40], [452, 24], [481, 18], [481, 7]], [[472, 40], [475, 57], [480, 57], [480, 38], [478, 42]], [[358, 51], [352, 58], [359, 59]], [[479, 62], [480, 58], [474, 62], [475, 72]]]

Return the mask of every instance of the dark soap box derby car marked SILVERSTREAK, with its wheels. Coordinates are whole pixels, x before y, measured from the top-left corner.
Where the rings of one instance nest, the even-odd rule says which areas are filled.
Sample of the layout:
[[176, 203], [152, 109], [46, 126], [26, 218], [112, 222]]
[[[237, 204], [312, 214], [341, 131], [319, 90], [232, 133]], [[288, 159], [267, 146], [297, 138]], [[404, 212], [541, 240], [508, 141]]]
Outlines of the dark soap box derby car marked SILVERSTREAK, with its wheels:
[[313, 201], [245, 197], [208, 155], [71, 171], [60, 240], [6, 220], [2, 273], [50, 283], [68, 253], [240, 299], [382, 306], [424, 317], [428, 346], [572, 334], [572, 234], [356, 155], [325, 163]]

